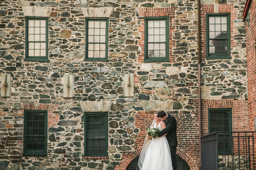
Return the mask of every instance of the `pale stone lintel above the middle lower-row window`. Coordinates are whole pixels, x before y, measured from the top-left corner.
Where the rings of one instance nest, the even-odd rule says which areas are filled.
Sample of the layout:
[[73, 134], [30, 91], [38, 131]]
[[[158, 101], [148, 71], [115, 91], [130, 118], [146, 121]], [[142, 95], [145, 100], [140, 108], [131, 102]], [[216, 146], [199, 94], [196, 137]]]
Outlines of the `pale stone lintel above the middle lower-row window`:
[[108, 112], [110, 110], [111, 101], [85, 101], [81, 102], [80, 105], [83, 112]]

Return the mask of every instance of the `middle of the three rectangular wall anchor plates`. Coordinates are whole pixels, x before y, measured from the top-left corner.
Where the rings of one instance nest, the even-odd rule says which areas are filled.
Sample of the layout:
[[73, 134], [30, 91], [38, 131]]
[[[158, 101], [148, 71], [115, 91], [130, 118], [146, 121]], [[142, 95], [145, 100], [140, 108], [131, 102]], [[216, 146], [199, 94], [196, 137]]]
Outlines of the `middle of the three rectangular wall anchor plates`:
[[73, 97], [73, 75], [66, 74], [63, 76], [64, 78], [64, 88], [63, 88], [63, 97], [64, 98], [71, 98]]

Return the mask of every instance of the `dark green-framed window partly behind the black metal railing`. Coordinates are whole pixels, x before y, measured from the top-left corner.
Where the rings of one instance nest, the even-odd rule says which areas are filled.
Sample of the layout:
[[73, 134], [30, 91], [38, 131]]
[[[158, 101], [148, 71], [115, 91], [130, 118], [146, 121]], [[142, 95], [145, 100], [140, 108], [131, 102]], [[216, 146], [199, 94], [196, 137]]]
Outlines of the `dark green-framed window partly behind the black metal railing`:
[[[219, 136], [219, 154], [230, 154], [232, 143], [231, 138], [228, 138], [232, 132], [232, 108], [208, 109], [208, 131], [226, 132], [218, 133]], [[227, 138], [223, 138], [223, 137]]]

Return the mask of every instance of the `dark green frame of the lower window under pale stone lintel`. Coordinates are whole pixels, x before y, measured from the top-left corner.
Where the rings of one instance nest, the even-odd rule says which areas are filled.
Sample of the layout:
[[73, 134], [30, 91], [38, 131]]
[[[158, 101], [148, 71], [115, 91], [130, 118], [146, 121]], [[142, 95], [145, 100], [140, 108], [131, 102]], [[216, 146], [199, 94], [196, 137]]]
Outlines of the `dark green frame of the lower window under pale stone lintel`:
[[[95, 115], [105, 115], [105, 153], [87, 153], [87, 115], [95, 116]], [[84, 156], [85, 157], [108, 157], [108, 112], [84, 112]]]

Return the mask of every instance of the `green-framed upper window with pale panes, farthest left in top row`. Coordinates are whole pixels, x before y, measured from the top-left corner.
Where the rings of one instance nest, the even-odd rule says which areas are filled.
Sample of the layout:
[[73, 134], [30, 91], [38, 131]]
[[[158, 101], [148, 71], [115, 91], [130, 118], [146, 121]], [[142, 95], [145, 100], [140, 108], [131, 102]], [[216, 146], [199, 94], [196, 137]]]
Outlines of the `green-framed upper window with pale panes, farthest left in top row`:
[[25, 59], [24, 61], [50, 62], [48, 60], [47, 17], [25, 17]]

